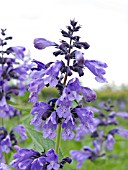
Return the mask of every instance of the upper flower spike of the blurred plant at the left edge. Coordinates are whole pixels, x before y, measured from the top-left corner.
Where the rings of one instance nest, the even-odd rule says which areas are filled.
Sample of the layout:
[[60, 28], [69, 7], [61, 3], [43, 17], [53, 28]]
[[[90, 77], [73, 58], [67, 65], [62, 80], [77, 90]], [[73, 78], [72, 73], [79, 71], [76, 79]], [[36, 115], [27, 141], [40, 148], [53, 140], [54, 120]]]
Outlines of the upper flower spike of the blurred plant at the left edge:
[[25, 47], [16, 46], [5, 49], [8, 40], [6, 29], [1, 29], [0, 38], [0, 117], [7, 118], [20, 114], [20, 111], [7, 103], [11, 95], [23, 95], [26, 91], [25, 81], [31, 65], [25, 59]]

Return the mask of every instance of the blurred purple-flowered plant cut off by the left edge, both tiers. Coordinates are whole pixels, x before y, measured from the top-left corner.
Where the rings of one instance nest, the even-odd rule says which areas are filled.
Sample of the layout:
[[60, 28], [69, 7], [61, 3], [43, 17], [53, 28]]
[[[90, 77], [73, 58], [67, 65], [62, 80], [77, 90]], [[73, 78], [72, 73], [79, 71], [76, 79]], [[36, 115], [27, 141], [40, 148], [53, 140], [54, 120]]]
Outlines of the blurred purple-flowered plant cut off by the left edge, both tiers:
[[[31, 65], [25, 57], [25, 47], [6, 47], [11, 36], [6, 36], [6, 29], [1, 29], [0, 38], [0, 169], [7, 170], [8, 154], [14, 151], [14, 146], [26, 140], [26, 130], [19, 124], [12, 129], [6, 129], [7, 120], [21, 114], [11, 104], [14, 96], [26, 92], [26, 78]], [[11, 103], [11, 104], [10, 104]], [[19, 137], [17, 138], [17, 134]]]

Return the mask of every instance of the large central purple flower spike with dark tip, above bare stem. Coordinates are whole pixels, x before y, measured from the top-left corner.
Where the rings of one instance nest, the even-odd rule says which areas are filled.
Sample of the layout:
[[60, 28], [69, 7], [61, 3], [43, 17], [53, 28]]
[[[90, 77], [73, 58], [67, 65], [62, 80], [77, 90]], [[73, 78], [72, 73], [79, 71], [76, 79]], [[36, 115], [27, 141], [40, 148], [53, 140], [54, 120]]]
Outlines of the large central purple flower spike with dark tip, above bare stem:
[[[80, 41], [80, 37], [74, 35], [81, 26], [77, 25], [75, 20], [71, 20], [68, 31], [61, 30], [62, 36], [69, 39], [69, 43], [61, 40], [60, 44], [51, 42], [44, 38], [36, 38], [34, 46], [37, 49], [44, 49], [49, 46], [55, 46], [57, 51], [54, 56], [62, 55], [64, 60], [42, 63], [34, 60], [36, 64], [32, 69], [31, 81], [28, 90], [30, 91], [29, 100], [34, 102], [31, 114], [34, 118], [31, 120], [36, 128], [42, 128], [43, 137], [53, 139], [56, 137], [58, 124], [62, 126], [61, 136], [64, 140], [73, 139], [78, 124], [82, 124], [89, 131], [92, 131], [93, 112], [84, 108], [81, 101], [91, 102], [96, 99], [96, 93], [89, 87], [80, 84], [77, 77], [68, 80], [73, 76], [73, 72], [84, 76], [84, 69], [87, 67], [98, 82], [107, 82], [103, 77], [105, 74], [106, 63], [97, 60], [86, 60], [84, 54], [77, 49], [88, 49], [90, 45], [87, 42]], [[44, 87], [55, 87], [58, 89], [60, 97], [53, 98], [47, 103], [38, 102], [38, 94]], [[73, 106], [73, 102], [76, 103]]]

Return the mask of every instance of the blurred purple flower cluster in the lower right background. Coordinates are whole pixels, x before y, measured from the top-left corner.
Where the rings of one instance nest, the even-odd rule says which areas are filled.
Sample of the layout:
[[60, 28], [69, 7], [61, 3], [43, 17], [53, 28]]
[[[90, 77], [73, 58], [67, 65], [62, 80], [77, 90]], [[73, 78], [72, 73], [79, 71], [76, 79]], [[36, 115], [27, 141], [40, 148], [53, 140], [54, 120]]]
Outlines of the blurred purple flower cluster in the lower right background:
[[[115, 135], [119, 135], [128, 139], [128, 130], [120, 127], [119, 122], [117, 121], [117, 117], [128, 119], [128, 112], [113, 111], [114, 105], [112, 105], [109, 100], [107, 102], [100, 103], [99, 106], [101, 106], [101, 109], [104, 110], [104, 112], [99, 108], [87, 106], [87, 108], [96, 114], [94, 121], [95, 128], [91, 133], [91, 138], [95, 139], [93, 141], [94, 149], [85, 146], [81, 151], [70, 151], [72, 158], [78, 161], [77, 168], [81, 168], [82, 163], [85, 160], [90, 159], [93, 161], [101, 156], [106, 155], [108, 150], [112, 150], [116, 142]], [[79, 126], [77, 129], [76, 140], [81, 140], [82, 137], [88, 133], [89, 132], [86, 130], [86, 128], [83, 126], [81, 128]]]

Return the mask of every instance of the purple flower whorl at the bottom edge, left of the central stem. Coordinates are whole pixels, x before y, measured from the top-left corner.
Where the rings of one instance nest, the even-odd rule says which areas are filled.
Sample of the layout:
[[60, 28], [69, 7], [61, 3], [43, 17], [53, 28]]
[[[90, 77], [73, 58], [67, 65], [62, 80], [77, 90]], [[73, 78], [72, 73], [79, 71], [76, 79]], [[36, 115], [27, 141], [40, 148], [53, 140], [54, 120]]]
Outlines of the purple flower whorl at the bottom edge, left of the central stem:
[[47, 153], [41, 154], [32, 149], [15, 147], [17, 153], [14, 154], [14, 160], [10, 163], [16, 170], [31, 169], [31, 170], [58, 170], [58, 155], [53, 149]]

